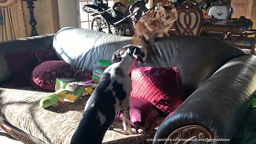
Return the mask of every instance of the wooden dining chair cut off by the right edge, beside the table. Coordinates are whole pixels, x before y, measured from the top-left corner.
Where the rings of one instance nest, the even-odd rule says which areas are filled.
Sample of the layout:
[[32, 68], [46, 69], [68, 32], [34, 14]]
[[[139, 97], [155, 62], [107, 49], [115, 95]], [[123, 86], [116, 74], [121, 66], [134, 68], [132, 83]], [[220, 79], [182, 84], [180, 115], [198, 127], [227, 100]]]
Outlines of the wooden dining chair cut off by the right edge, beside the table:
[[245, 33], [230, 33], [227, 39], [229, 43], [244, 50], [246, 54], [249, 54], [249, 50], [250, 54], [255, 55], [256, 29], [246, 31]]

